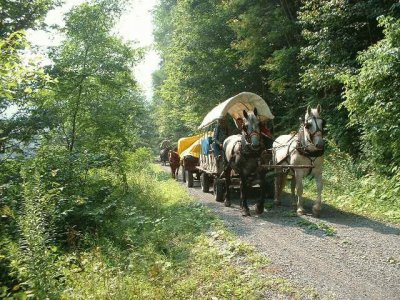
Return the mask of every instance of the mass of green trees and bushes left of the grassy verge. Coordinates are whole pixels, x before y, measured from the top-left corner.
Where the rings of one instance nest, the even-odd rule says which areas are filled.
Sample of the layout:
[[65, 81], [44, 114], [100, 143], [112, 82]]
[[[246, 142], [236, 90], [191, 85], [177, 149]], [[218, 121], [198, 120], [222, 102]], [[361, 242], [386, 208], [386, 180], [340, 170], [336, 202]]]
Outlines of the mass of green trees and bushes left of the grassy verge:
[[[39, 4], [50, 1], [30, 3], [42, 14]], [[81, 232], [102, 228], [114, 215], [115, 195], [127, 191], [128, 150], [146, 145], [139, 138], [148, 134], [151, 119], [131, 72], [142, 50], [110, 34], [123, 5], [93, 1], [68, 14], [67, 38], [46, 70], [54, 80], [21, 55], [23, 33], [0, 40], [0, 112], [18, 108], [0, 121], [0, 146], [7, 151], [0, 161], [1, 297], [58, 298], [70, 264], [58, 259], [61, 252], [75, 249]], [[17, 11], [25, 6], [7, 13]], [[30, 157], [18, 149], [25, 142], [35, 143]], [[149, 156], [141, 150], [133, 159], [144, 165]], [[104, 176], [109, 170], [112, 175]]]

